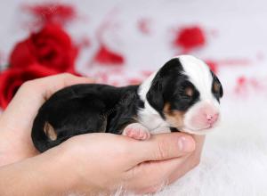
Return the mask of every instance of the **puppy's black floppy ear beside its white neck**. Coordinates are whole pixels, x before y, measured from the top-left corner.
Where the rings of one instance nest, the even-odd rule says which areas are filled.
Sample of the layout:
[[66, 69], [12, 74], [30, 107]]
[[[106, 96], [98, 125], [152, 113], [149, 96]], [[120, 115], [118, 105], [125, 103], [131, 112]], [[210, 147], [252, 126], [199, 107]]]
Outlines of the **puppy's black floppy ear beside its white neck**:
[[157, 78], [157, 76], [154, 78], [150, 86], [150, 90], [146, 96], [148, 102], [150, 102], [150, 105], [159, 113], [161, 113], [164, 107], [163, 88], [162, 82], [160, 78]]

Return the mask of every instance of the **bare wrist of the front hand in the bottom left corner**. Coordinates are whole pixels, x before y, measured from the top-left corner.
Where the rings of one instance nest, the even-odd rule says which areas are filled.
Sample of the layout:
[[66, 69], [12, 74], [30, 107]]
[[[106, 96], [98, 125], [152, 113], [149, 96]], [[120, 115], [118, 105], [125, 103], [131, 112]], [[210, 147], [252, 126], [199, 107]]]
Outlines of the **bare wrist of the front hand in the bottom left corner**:
[[64, 195], [73, 192], [76, 179], [58, 148], [0, 167], [4, 195]]

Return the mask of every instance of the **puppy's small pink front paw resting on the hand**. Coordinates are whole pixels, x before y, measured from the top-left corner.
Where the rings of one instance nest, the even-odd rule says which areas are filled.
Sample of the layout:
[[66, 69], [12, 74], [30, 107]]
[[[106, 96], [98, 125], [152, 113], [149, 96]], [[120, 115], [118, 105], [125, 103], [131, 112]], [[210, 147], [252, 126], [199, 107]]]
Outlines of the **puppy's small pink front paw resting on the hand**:
[[148, 140], [150, 139], [150, 131], [143, 127], [140, 123], [132, 123], [125, 127], [123, 134], [132, 137], [135, 140]]

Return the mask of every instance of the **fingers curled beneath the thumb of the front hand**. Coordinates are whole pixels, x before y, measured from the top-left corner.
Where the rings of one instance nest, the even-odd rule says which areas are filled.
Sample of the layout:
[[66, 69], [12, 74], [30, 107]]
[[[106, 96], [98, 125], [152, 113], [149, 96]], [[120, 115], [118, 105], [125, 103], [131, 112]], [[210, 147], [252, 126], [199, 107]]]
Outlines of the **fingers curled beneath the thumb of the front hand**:
[[132, 187], [129, 188], [137, 190], [138, 193], [157, 192], [198, 166], [205, 136], [192, 137], [196, 141], [195, 151], [179, 158], [142, 162], [129, 170], [128, 175], [132, 176]]

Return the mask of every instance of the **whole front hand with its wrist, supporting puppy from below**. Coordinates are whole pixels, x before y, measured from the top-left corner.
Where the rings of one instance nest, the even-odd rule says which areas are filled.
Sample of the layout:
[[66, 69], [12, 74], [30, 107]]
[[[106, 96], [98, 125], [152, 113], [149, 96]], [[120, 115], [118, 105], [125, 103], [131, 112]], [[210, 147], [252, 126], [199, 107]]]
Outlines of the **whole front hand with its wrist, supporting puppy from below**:
[[125, 191], [156, 192], [198, 164], [204, 138], [195, 139], [196, 145], [182, 133], [152, 135], [147, 141], [103, 133], [77, 135], [42, 154], [0, 167], [0, 194], [96, 196], [110, 195], [120, 186]]

